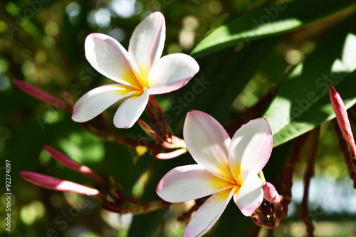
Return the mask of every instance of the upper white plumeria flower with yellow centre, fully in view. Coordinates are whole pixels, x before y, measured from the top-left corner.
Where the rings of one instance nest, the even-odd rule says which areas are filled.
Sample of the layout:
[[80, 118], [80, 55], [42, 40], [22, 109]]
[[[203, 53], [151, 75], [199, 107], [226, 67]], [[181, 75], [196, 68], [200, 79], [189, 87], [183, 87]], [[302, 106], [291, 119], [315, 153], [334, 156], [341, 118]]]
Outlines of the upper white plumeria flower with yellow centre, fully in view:
[[85, 39], [89, 63], [118, 84], [103, 85], [75, 103], [72, 119], [86, 122], [110, 105], [124, 99], [114, 116], [114, 125], [132, 127], [148, 102], [149, 95], [169, 93], [187, 84], [199, 71], [194, 58], [173, 53], [161, 58], [165, 40], [164, 16], [155, 12], [135, 28], [128, 52], [114, 38], [91, 33]]

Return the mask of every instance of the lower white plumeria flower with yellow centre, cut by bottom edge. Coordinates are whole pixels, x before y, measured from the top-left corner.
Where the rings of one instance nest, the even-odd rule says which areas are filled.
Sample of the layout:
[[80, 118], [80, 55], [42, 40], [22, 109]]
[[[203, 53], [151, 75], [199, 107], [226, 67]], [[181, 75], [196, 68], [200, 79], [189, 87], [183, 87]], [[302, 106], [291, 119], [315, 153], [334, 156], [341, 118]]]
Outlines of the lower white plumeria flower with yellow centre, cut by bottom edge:
[[198, 164], [176, 167], [159, 181], [157, 194], [172, 203], [211, 195], [192, 217], [183, 236], [209, 231], [234, 196], [236, 205], [250, 216], [263, 201], [258, 173], [272, 152], [271, 128], [264, 118], [251, 120], [230, 139], [214, 117], [201, 111], [187, 114], [184, 140]]

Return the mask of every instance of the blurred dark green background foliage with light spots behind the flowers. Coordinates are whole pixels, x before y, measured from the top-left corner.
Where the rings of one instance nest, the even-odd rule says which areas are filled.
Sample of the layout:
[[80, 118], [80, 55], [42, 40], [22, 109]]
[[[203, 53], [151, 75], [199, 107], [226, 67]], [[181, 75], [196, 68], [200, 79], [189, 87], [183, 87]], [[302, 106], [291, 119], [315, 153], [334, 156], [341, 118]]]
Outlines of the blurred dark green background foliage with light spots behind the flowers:
[[[264, 11], [262, 16], [273, 19], [264, 8], [268, 6], [267, 9], [270, 9], [276, 3], [289, 2], [1, 1], [1, 203], [6, 204], [3, 195], [5, 159], [11, 161], [13, 195], [11, 233], [4, 229], [3, 216], [7, 212], [6, 205], [1, 205], [0, 235], [182, 236], [186, 223], [178, 223], [174, 217], [182, 214], [184, 204], [174, 204], [170, 209], [135, 217], [130, 214], [118, 215], [100, 209], [95, 199], [42, 189], [21, 179], [19, 171], [27, 170], [95, 187], [92, 181], [51, 159], [43, 151], [43, 144], [49, 144], [92, 168], [105, 180], [115, 179], [127, 196], [154, 201], [158, 199], [155, 187], [169, 169], [194, 162], [189, 154], [167, 161], [157, 160], [148, 152], [140, 157], [121, 144], [105, 142], [73, 122], [68, 112], [26, 95], [14, 86], [12, 80], [19, 78], [58, 98], [63, 98], [63, 90], [66, 90], [70, 93], [70, 99], [75, 101], [88, 90], [110, 83], [85, 59], [84, 41], [89, 33], [108, 34], [127, 48], [135, 26], [151, 12], [161, 11], [167, 26], [163, 54], [189, 53], [207, 33], [221, 24], [249, 16], [258, 10]], [[320, 4], [321, 9], [322, 5], [332, 2], [335, 4], [335, 1], [315, 1], [315, 5]], [[197, 54], [201, 68], [197, 76], [184, 88], [157, 96], [164, 111], [172, 118], [169, 124], [174, 133], [182, 137], [184, 117], [189, 110], [209, 112], [226, 125], [239, 119], [248, 107], [255, 105], [268, 93], [276, 95], [276, 90], [287, 80], [288, 73], [305, 58], [308, 60], [308, 56], [317, 51], [315, 48], [328, 33], [342, 28], [342, 22], [345, 21], [347, 26], [355, 29], [355, 4], [345, 1], [340, 1], [340, 4], [343, 5], [335, 8], [335, 11], [312, 12], [316, 19], [290, 30], [270, 33], [261, 39], [259, 36], [256, 39], [252, 37], [251, 42], [233, 42], [215, 52], [209, 51], [205, 56]], [[263, 19], [256, 19], [264, 23]], [[246, 28], [252, 25], [253, 21], [248, 21]], [[315, 78], [319, 75], [315, 75]], [[192, 94], [194, 84], [201, 86], [201, 93]], [[350, 95], [356, 95], [354, 88], [348, 90]], [[262, 116], [270, 102], [271, 99], [266, 99], [266, 103], [251, 118]], [[115, 108], [105, 112], [109, 125], [112, 125], [114, 112]], [[351, 113], [356, 115], [355, 110]], [[142, 119], [147, 121], [147, 115], [142, 115]], [[130, 130], [117, 130], [112, 126], [112, 130], [127, 137], [145, 137], [138, 125]], [[330, 122], [324, 122], [320, 131], [315, 178], [312, 179], [309, 196], [315, 236], [355, 236], [356, 192], [347, 177], [342, 154], [337, 150], [333, 126]], [[266, 179], [273, 184], [278, 183], [278, 174], [290, 155], [293, 142], [284, 142], [273, 150], [271, 162], [265, 168]], [[299, 209], [303, 197], [307, 148], [302, 151], [295, 169], [293, 202], [288, 218], [283, 219], [278, 228], [263, 229], [260, 236], [306, 236], [305, 227], [299, 219]], [[243, 216], [231, 202], [206, 236], [248, 236], [253, 226], [251, 219]]]

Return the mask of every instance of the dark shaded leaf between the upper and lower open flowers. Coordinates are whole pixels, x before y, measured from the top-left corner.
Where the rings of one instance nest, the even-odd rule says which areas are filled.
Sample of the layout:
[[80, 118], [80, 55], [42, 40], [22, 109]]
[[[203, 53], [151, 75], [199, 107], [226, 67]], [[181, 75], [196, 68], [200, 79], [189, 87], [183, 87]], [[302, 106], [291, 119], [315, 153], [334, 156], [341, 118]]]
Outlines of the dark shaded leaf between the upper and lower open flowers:
[[273, 51], [279, 37], [262, 39], [238, 52], [227, 49], [198, 60], [199, 74], [171, 103], [172, 125], [182, 127], [189, 110], [201, 110], [226, 122], [232, 103], [255, 75], [263, 60]]

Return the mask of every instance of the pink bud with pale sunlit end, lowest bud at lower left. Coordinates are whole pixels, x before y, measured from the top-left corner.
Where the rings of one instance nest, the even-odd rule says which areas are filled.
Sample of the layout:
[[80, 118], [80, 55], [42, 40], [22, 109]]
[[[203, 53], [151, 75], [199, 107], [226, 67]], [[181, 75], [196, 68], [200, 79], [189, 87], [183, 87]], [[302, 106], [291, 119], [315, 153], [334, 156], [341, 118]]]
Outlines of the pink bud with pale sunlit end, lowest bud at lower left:
[[81, 184], [76, 184], [63, 179], [57, 179], [55, 177], [50, 177], [44, 174], [38, 174], [34, 172], [19, 172], [19, 174], [23, 179], [26, 179], [30, 183], [36, 184], [37, 186], [41, 186], [46, 189], [69, 191], [71, 193], [88, 196], [96, 196], [100, 194], [98, 190], [89, 188], [88, 186], [83, 186]]

